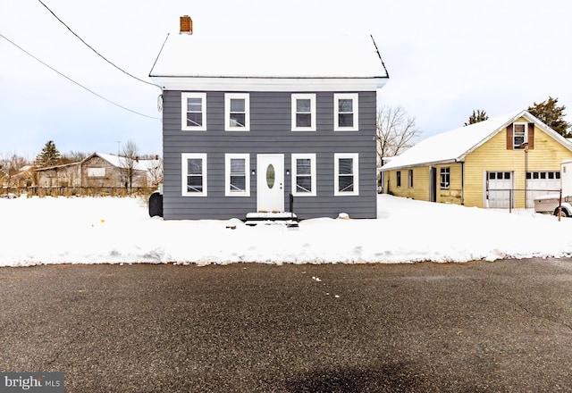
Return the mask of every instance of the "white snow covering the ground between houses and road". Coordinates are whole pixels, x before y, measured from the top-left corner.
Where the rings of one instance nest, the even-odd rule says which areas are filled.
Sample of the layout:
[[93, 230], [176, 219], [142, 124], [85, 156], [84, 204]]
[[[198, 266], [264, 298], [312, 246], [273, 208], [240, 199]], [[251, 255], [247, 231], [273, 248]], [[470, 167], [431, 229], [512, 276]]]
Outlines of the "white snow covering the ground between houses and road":
[[[0, 266], [42, 263], [415, 263], [572, 255], [572, 219], [378, 196], [375, 220], [248, 227], [150, 218], [144, 199], [0, 199]], [[235, 227], [235, 229], [227, 228]]]

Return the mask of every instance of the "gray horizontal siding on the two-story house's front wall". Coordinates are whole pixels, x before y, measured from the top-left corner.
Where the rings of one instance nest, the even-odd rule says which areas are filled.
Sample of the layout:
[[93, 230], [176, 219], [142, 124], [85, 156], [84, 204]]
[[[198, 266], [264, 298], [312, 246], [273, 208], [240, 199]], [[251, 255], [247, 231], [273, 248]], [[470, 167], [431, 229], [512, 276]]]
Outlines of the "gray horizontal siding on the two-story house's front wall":
[[[164, 219], [244, 219], [257, 211], [257, 175], [250, 176], [249, 197], [225, 197], [224, 155], [249, 154], [257, 168], [257, 154], [283, 154], [284, 208], [291, 192], [291, 155], [315, 153], [316, 197], [294, 197], [300, 219], [374, 218], [375, 113], [374, 91], [359, 92], [359, 130], [333, 131], [334, 92], [316, 92], [316, 130], [292, 131], [291, 93], [248, 92], [250, 131], [224, 130], [224, 92], [206, 92], [206, 131], [181, 130], [181, 91], [164, 91]], [[181, 154], [206, 153], [207, 197], [181, 196]], [[334, 196], [334, 153], [359, 154], [359, 195]]]

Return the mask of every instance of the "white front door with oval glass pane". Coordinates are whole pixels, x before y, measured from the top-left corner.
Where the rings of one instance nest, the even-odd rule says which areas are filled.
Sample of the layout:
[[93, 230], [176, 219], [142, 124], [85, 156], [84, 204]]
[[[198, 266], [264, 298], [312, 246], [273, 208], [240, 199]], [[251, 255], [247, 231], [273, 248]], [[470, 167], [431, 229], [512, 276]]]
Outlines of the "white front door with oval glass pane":
[[284, 211], [284, 155], [257, 155], [257, 210]]

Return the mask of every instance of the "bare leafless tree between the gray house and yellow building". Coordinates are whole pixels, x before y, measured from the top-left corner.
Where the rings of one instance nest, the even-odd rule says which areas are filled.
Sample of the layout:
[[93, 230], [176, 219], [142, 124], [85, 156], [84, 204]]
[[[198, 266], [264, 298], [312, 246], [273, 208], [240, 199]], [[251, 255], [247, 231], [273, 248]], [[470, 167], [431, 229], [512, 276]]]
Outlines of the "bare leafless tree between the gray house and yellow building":
[[382, 106], [377, 112], [377, 165], [383, 159], [400, 155], [413, 146], [421, 131], [416, 128], [415, 117], [409, 116], [402, 106]]

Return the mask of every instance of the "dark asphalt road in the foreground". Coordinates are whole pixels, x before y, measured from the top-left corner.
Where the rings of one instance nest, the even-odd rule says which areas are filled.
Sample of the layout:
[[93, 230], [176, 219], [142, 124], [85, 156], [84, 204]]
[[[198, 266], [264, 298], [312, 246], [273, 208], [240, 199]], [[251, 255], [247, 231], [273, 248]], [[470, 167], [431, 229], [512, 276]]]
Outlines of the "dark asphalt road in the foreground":
[[0, 269], [0, 372], [66, 392], [572, 392], [572, 260]]

